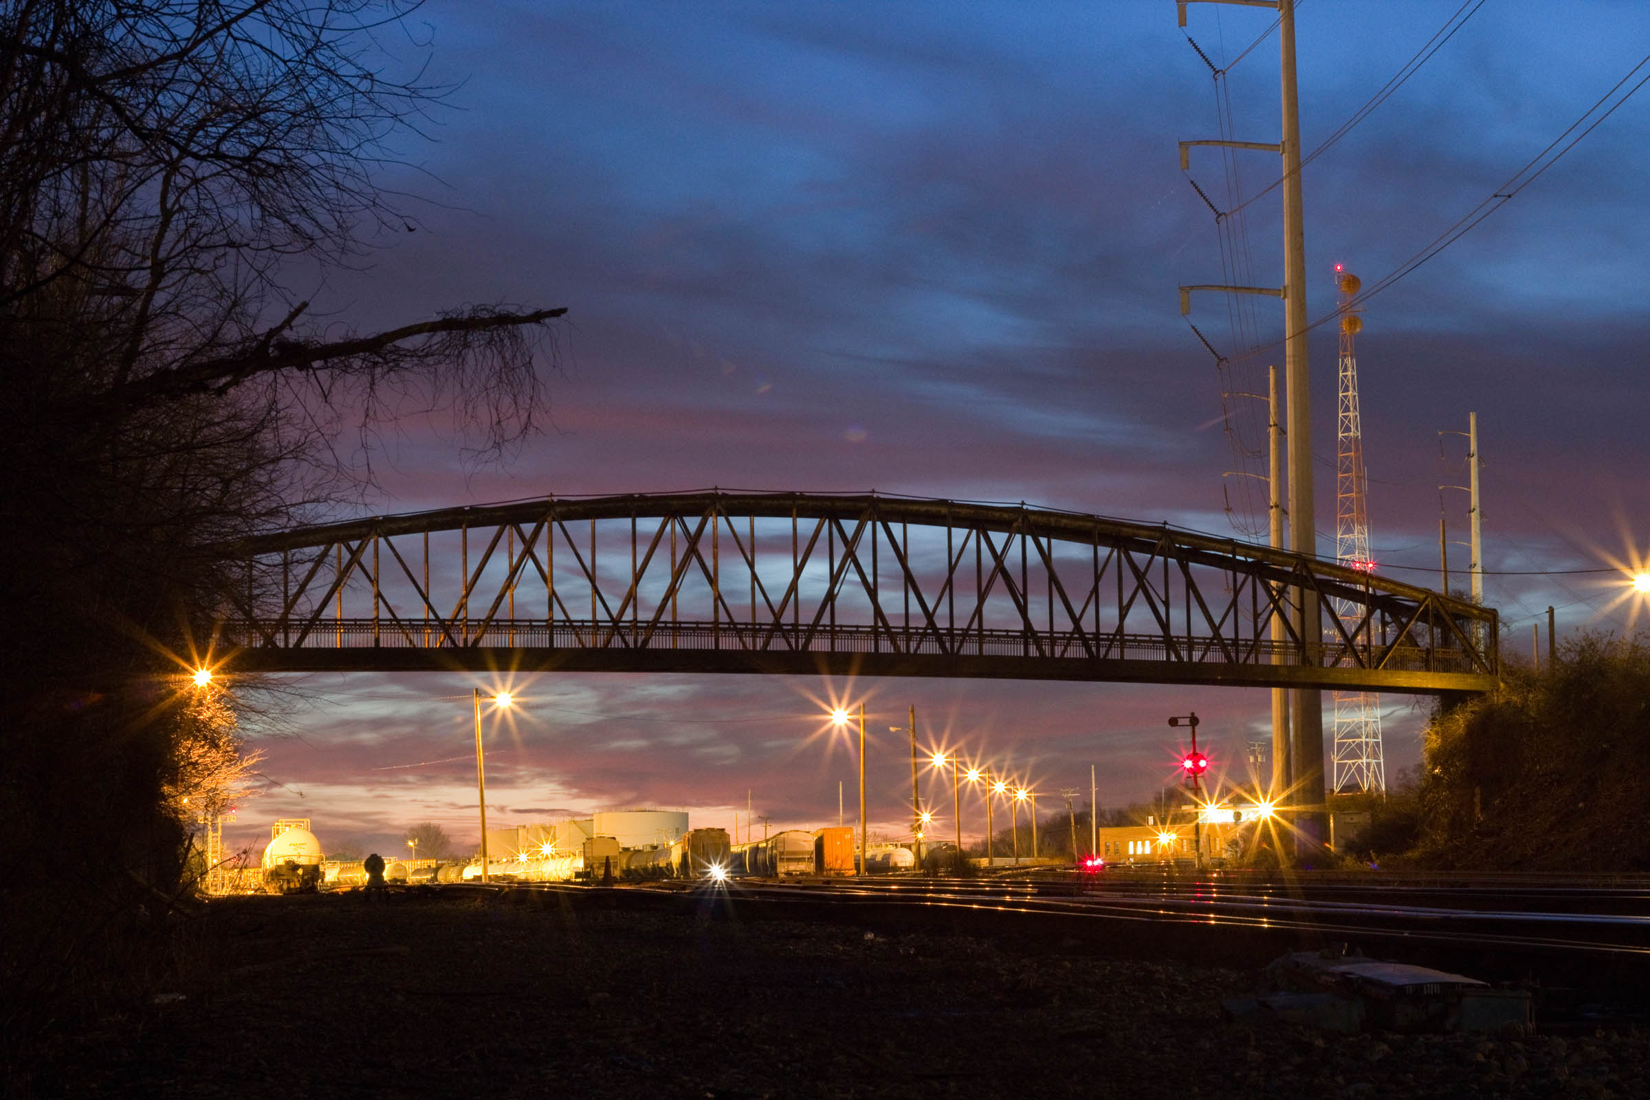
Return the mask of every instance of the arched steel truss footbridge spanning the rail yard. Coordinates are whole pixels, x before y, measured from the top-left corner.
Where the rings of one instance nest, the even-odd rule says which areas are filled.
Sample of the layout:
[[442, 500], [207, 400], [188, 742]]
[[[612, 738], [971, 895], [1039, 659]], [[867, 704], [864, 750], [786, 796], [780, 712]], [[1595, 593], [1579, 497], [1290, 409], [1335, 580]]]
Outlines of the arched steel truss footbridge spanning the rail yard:
[[246, 574], [216, 645], [238, 670], [1406, 693], [1487, 691], [1500, 671], [1492, 609], [1234, 539], [1026, 506], [546, 498], [309, 526], [221, 551]]

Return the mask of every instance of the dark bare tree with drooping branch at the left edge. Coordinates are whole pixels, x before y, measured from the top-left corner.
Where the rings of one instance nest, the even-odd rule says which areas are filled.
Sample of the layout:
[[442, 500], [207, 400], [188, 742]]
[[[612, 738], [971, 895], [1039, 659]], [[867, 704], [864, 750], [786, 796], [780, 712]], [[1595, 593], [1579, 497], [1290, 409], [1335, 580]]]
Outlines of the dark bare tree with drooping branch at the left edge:
[[177, 676], [248, 584], [213, 546], [358, 491], [404, 409], [450, 411], [483, 455], [544, 411], [561, 308], [363, 333], [292, 290], [416, 224], [378, 183], [447, 91], [416, 8], [0, 0], [0, 889], [35, 914], [0, 985], [41, 1019], [101, 988], [111, 905], [165, 912], [175, 800], [233, 788], [233, 726]]

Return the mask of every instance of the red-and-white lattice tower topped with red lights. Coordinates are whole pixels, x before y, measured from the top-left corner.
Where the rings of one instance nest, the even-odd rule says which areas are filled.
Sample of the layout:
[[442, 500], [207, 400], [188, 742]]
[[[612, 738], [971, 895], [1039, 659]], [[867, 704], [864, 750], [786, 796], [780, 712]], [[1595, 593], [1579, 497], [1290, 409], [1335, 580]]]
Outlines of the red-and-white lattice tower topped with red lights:
[[[1335, 266], [1335, 289], [1340, 294], [1340, 449], [1335, 458], [1335, 556], [1340, 564], [1365, 572], [1374, 571], [1370, 557], [1370, 511], [1363, 465], [1363, 417], [1358, 412], [1358, 356], [1355, 341], [1363, 317], [1351, 300], [1363, 284], [1358, 275]], [[1335, 602], [1346, 630], [1355, 630], [1360, 609], [1346, 600]], [[1381, 762], [1381, 704], [1370, 691], [1335, 693], [1335, 760], [1333, 785], [1348, 790], [1386, 792], [1386, 767]]]

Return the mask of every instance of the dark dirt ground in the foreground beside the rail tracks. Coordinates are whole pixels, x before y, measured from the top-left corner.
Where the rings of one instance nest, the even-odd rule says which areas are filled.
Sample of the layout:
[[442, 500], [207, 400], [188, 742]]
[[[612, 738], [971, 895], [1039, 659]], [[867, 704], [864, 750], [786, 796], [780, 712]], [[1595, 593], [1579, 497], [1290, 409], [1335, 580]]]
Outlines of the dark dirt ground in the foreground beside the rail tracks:
[[[624, 892], [606, 892], [607, 896]], [[177, 990], [63, 1036], [40, 1095], [1643, 1097], [1650, 1036], [1224, 1022], [1254, 970], [721, 900], [216, 902]]]

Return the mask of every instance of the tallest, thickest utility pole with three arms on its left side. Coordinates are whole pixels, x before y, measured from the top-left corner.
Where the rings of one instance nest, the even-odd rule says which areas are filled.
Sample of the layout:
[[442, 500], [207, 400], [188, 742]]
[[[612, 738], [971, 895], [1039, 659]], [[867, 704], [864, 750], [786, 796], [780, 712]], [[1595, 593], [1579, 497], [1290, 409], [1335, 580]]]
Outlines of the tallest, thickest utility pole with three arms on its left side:
[[[1186, 3], [1238, 3], [1242, 7], [1274, 7], [1270, 0], [1176, 0], [1180, 26], [1186, 25]], [[1219, 290], [1224, 294], [1262, 294], [1284, 300], [1284, 373], [1289, 421], [1289, 548], [1302, 557], [1317, 557], [1315, 508], [1312, 496], [1312, 389], [1307, 369], [1307, 249], [1300, 196], [1300, 99], [1295, 84], [1295, 0], [1275, 0], [1279, 40], [1279, 84], [1282, 87], [1280, 140], [1277, 145], [1261, 142], [1181, 142], [1180, 163], [1190, 163], [1191, 145], [1219, 145], [1226, 148], [1256, 148], [1277, 152], [1282, 157], [1284, 193], [1284, 285], [1236, 287], [1196, 285], [1180, 287], [1180, 312], [1191, 312], [1191, 290]], [[1294, 609], [1295, 635], [1302, 640], [1317, 638], [1320, 609], [1317, 594], [1300, 589], [1300, 602]], [[1304, 665], [1322, 660], [1310, 642], [1300, 655]], [[1290, 689], [1292, 717], [1289, 759], [1290, 778], [1295, 788], [1297, 849], [1315, 853], [1323, 839], [1323, 698], [1315, 688]], [[1272, 754], [1274, 759], [1277, 754]]]

